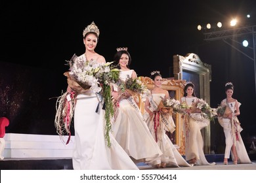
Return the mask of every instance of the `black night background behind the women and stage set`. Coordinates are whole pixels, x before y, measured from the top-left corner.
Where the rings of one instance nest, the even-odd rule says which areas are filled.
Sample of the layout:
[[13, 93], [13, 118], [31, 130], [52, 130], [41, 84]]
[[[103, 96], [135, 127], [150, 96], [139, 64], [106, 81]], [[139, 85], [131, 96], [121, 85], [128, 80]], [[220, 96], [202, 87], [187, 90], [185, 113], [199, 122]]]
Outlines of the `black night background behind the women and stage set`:
[[[56, 134], [56, 98], [49, 98], [66, 90], [65, 60], [84, 53], [83, 29], [94, 21], [100, 29], [96, 52], [112, 61], [117, 47], [128, 47], [138, 76], [157, 70], [173, 77], [173, 55], [197, 54], [212, 67], [211, 107], [226, 97], [224, 84], [232, 82], [233, 97], [242, 103], [242, 137], [249, 144], [256, 136], [253, 61], [223, 41], [203, 41], [197, 29], [235, 17], [243, 26], [256, 25], [255, 0], [0, 3], [0, 116], [11, 119], [7, 133]], [[216, 150], [224, 134], [218, 122], [212, 126]]]

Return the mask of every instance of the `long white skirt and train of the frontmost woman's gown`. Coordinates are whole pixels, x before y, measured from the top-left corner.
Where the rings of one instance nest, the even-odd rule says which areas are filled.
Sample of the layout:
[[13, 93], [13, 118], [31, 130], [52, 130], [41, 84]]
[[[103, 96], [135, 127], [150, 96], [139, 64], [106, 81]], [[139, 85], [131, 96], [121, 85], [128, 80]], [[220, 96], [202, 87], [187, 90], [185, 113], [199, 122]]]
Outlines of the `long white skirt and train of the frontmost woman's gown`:
[[106, 144], [104, 110], [99, 107], [95, 93], [77, 95], [74, 113], [75, 142], [73, 167], [79, 169], [138, 169], [110, 133], [110, 147]]

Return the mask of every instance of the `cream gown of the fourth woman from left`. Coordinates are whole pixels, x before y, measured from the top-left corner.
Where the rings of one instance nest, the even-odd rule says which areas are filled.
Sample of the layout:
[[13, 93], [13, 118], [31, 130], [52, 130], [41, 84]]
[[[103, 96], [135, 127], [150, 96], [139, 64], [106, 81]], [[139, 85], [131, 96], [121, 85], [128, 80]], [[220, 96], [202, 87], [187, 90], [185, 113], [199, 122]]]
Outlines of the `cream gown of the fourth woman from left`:
[[[188, 106], [191, 106], [192, 101], [196, 102], [197, 99], [198, 98], [196, 97], [182, 97], [181, 102], [186, 102]], [[196, 165], [215, 165], [215, 163], [209, 163], [207, 161], [203, 152], [203, 137], [201, 129], [209, 125], [209, 119], [203, 118], [200, 113], [192, 113], [189, 117], [185, 117], [184, 120], [186, 120], [186, 118], [188, 119], [189, 124], [188, 137], [185, 135], [186, 161], [196, 158]], [[185, 124], [185, 122], [183, 124]], [[184, 131], [186, 133], [185, 126]]]

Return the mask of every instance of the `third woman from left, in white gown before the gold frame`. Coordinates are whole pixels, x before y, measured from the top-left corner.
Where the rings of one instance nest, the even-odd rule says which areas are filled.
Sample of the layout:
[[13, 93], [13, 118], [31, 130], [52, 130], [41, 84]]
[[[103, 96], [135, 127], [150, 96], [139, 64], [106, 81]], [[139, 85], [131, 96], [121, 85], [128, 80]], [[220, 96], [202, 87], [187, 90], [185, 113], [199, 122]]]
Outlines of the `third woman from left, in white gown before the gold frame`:
[[175, 123], [173, 122], [172, 113], [170, 114], [166, 109], [158, 108], [160, 103], [169, 98], [169, 92], [161, 88], [162, 78], [159, 71], [153, 71], [151, 78], [154, 80], [154, 88], [151, 90], [152, 95], [146, 98], [145, 101], [145, 112], [144, 119], [150, 129], [150, 133], [154, 140], [160, 147], [161, 152], [161, 163], [159, 167], [190, 167], [191, 165], [182, 158], [181, 154], [175, 148], [171, 140], [166, 134], [166, 131], [173, 133], [175, 131]]

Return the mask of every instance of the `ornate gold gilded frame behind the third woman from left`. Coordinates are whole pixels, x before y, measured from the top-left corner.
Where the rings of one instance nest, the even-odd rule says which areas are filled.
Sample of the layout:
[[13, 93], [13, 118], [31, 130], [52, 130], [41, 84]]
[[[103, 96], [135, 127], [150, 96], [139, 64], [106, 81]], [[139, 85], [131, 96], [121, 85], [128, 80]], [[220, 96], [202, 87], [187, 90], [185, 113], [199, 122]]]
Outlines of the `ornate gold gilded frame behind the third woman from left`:
[[[147, 86], [148, 90], [152, 90], [154, 88], [154, 81], [149, 77], [140, 76], [140, 80]], [[161, 87], [163, 90], [174, 91], [175, 92], [175, 99], [181, 100], [181, 97], [184, 94], [184, 86], [186, 84], [185, 80], [174, 80], [174, 79], [167, 79], [163, 78], [163, 82]], [[144, 113], [144, 103], [140, 103], [140, 110], [142, 114]], [[181, 114], [174, 114], [175, 115], [175, 147], [180, 152], [181, 155], [185, 153], [185, 142], [184, 142], [184, 133], [183, 133], [183, 125]]]

